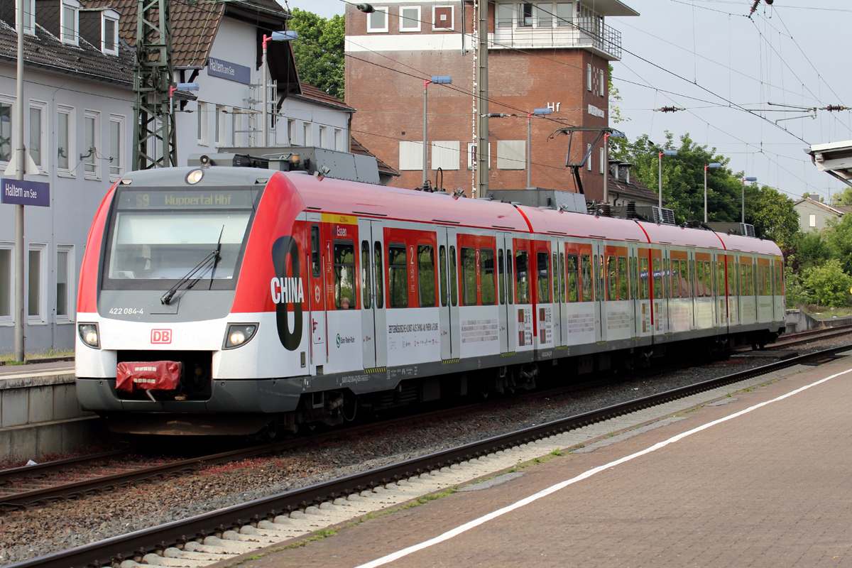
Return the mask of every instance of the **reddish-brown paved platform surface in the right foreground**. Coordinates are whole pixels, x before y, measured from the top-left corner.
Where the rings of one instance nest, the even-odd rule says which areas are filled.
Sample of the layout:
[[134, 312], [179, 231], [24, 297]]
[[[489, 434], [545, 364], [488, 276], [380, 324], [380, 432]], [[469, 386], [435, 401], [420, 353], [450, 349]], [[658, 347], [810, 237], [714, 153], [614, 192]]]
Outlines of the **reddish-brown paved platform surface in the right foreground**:
[[843, 371], [852, 359], [241, 566], [849, 566], [852, 372], [814, 384]]

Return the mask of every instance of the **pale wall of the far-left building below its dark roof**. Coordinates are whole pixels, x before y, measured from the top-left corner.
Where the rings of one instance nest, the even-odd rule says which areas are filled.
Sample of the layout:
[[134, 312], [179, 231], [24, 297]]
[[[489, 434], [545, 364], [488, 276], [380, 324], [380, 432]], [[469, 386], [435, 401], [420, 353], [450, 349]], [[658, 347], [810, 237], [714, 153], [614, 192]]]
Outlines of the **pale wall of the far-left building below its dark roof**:
[[[0, 100], [14, 102], [15, 68], [12, 65], [0, 66]], [[112, 186], [110, 181], [110, 118], [120, 120], [122, 126], [120, 165], [122, 173], [130, 165], [133, 136], [133, 91], [119, 89], [100, 83], [87, 83], [67, 75], [49, 75], [27, 68], [25, 73], [24, 98], [29, 101], [24, 109], [24, 136], [27, 149], [30, 147], [29, 108], [40, 106], [43, 109], [43, 148], [42, 160], [44, 173], [26, 175], [27, 181], [40, 181], [50, 184], [50, 207], [24, 208], [24, 313], [26, 351], [29, 355], [43, 352], [51, 347], [71, 348], [74, 345], [75, 313], [77, 308], [77, 287], [79, 268], [83, 261], [86, 238], [92, 218], [101, 200]], [[69, 168], [66, 173], [57, 170], [57, 112], [60, 109], [72, 110], [72, 127], [69, 138], [72, 141]], [[87, 153], [84, 147], [83, 125], [86, 116], [96, 118], [95, 172], [87, 173], [80, 154]], [[14, 112], [13, 143], [14, 138]], [[0, 173], [8, 162], [0, 162]], [[3, 176], [14, 178], [14, 175]], [[112, 175], [112, 179], [117, 179]], [[0, 204], [0, 248], [13, 249], [11, 254], [12, 270], [10, 295], [12, 296], [9, 317], [0, 317], [0, 353], [9, 353], [14, 347], [14, 205]], [[30, 250], [39, 251], [39, 282], [37, 290], [38, 315], [28, 314], [30, 302], [30, 283], [27, 276], [31, 273]], [[57, 307], [57, 252], [67, 252], [68, 274], [66, 290], [66, 317], [56, 316]], [[60, 278], [63, 279], [63, 278]]]

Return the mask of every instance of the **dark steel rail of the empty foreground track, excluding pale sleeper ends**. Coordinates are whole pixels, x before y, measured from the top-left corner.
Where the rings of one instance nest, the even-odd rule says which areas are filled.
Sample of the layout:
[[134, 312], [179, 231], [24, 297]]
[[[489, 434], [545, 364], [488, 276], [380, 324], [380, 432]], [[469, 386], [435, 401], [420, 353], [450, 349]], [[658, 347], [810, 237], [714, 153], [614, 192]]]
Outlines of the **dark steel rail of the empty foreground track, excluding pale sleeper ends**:
[[211, 534], [224, 532], [229, 529], [239, 530], [239, 527], [246, 523], [257, 522], [262, 519], [272, 519], [279, 513], [304, 509], [311, 504], [320, 504], [340, 496], [348, 496], [353, 492], [360, 492], [399, 479], [410, 478], [418, 473], [428, 473], [435, 469], [452, 465], [453, 463], [467, 461], [478, 456], [486, 456], [498, 450], [505, 450], [515, 445], [532, 442], [536, 439], [548, 438], [556, 433], [573, 430], [574, 428], [594, 422], [601, 422], [614, 416], [622, 416], [671, 400], [681, 399], [694, 393], [740, 382], [753, 376], [765, 375], [775, 370], [785, 369], [786, 367], [809, 361], [830, 360], [836, 353], [849, 351], [850, 349], [852, 349], [852, 344], [831, 347], [820, 352], [784, 359], [776, 363], [743, 370], [732, 375], [717, 377], [687, 387], [679, 387], [663, 393], [652, 394], [642, 399], [635, 399], [622, 404], [613, 404], [612, 406], [584, 414], [568, 416], [567, 418], [493, 436], [492, 438], [460, 445], [448, 450], [436, 451], [426, 456], [392, 463], [366, 472], [353, 473], [343, 478], [331, 479], [323, 483], [262, 497], [250, 502], [233, 505], [232, 507], [196, 515], [189, 519], [176, 520], [165, 525], [134, 531], [123, 536], [113, 536], [101, 542], [93, 542], [63, 552], [25, 560], [14, 565], [9, 565], [9, 568], [30, 568], [31, 566], [39, 566], [40, 568], [82, 568], [87, 565], [111, 565], [116, 560], [121, 561], [153, 552], [158, 548], [167, 548], [170, 546], [170, 543], [188, 542], [199, 536], [210, 536]]

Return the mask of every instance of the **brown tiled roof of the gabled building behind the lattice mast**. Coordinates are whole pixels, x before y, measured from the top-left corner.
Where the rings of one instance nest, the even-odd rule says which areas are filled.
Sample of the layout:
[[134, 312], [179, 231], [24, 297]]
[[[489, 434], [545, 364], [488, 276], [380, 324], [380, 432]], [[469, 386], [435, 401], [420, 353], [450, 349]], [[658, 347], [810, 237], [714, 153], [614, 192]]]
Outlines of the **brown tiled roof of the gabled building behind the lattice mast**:
[[[86, 8], [112, 8], [121, 14], [118, 35], [131, 47], [136, 43], [136, 0], [83, 0]], [[288, 20], [285, 12], [274, 0], [249, 0], [246, 2], [188, 3], [175, 0], [171, 3], [172, 63], [176, 67], [203, 67], [207, 64], [210, 46], [216, 37], [222, 15], [229, 7], [270, 14], [281, 22]], [[280, 29], [280, 28], [279, 28]], [[254, 44], [250, 46], [254, 49]]]

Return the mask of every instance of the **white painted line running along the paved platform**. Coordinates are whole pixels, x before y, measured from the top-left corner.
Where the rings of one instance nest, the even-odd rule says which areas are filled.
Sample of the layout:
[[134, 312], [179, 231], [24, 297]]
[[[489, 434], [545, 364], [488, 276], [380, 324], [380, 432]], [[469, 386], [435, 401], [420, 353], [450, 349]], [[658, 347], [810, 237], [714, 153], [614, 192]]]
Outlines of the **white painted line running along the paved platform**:
[[646, 448], [645, 450], [637, 451], [635, 454], [630, 454], [630, 456], [622, 457], [618, 460], [615, 460], [614, 462], [609, 462], [606, 465], [598, 466], [597, 468], [592, 468], [588, 471], [585, 471], [584, 473], [580, 473], [578, 476], [573, 477], [572, 479], [567, 479], [565, 481], [561, 481], [560, 483], [557, 483], [556, 485], [550, 485], [550, 487], [548, 487], [547, 489], [544, 489], [542, 491], [538, 491], [538, 493], [535, 493], [531, 496], [528, 496], [524, 499], [521, 499], [521, 501], [514, 502], [507, 507], [500, 508], [496, 511], [493, 511], [492, 513], [488, 513], [486, 515], [483, 515], [479, 519], [474, 519], [472, 521], [469, 521], [468, 523], [465, 523], [464, 525], [457, 526], [455, 529], [452, 529], [452, 531], [446, 531], [445, 533], [443, 533], [439, 536], [435, 536], [435, 538], [430, 538], [428, 541], [420, 542], [419, 544], [415, 544], [415, 545], [410, 546], [408, 548], [403, 548], [402, 550], [400, 550], [398, 552], [388, 554], [386, 556], [383, 556], [382, 558], [375, 559], [372, 562], [367, 562], [366, 564], [362, 564], [362, 565], [358, 566], [357, 568], [375, 568], [376, 566], [386, 565], [386, 564], [389, 564], [390, 562], [393, 562], [394, 560], [404, 558], [404, 557], [408, 556], [409, 554], [414, 554], [417, 551], [423, 550], [424, 548], [429, 548], [429, 547], [431, 547], [435, 544], [438, 544], [440, 542], [450, 540], [452, 537], [458, 536], [458, 535], [462, 534], [463, 532], [467, 532], [470, 529], [473, 529], [473, 528], [475, 528], [479, 525], [483, 525], [491, 519], [497, 519], [498, 517], [500, 517], [500, 516], [502, 516], [506, 513], [509, 513], [511, 511], [514, 511], [517, 508], [521, 508], [521, 507], [528, 505], [532, 502], [538, 501], [538, 499], [541, 499], [542, 497], [549, 496], [551, 493], [555, 493], [556, 491], [564, 489], [568, 485], [573, 485], [573, 484], [577, 483], [578, 481], [582, 481], [583, 479], [588, 479], [592, 475], [595, 475], [596, 473], [600, 473], [600, 472], [605, 471], [609, 468], [614, 468], [615, 466], [618, 466], [618, 465], [625, 463], [625, 462], [630, 462], [630, 460], [633, 460], [636, 457], [644, 456], [645, 454], [649, 454], [652, 451], [659, 450], [660, 448], [665, 448], [665, 446], [673, 444], [673, 443], [675, 443], [679, 440], [682, 440], [682, 439], [686, 438], [687, 436], [691, 436], [694, 433], [699, 433], [702, 430], [706, 430], [707, 428], [712, 427], [712, 426], [716, 426], [717, 424], [721, 424], [722, 422], [728, 422], [728, 420], [732, 420], [732, 419], [736, 418], [737, 416], [742, 416], [744, 414], [748, 414], [749, 412], [751, 412], [751, 410], [757, 410], [758, 408], [762, 408], [763, 406], [766, 406], [767, 404], [772, 404], [774, 402], [778, 402], [779, 400], [786, 399], [787, 397], [792, 397], [792, 395], [794, 395], [794, 394], [801, 393], [805, 390], [808, 390], [810, 387], [815, 387], [815, 386], [817, 386], [817, 385], [819, 385], [823, 382], [831, 381], [833, 378], [836, 378], [836, 377], [841, 376], [841, 375], [846, 375], [849, 372], [852, 372], [852, 369], [843, 370], [839, 373], [835, 373], [832, 376], [826, 376], [826, 378], [824, 378], [824, 379], [820, 379], [819, 381], [812, 382], [809, 385], [805, 385], [804, 387], [797, 388], [796, 390], [791, 391], [790, 393], [782, 394], [778, 398], [775, 398], [775, 399], [772, 399], [772, 400], [767, 400], [767, 401], [762, 402], [760, 404], [755, 404], [754, 406], [746, 408], [746, 410], [740, 410], [739, 412], [734, 412], [734, 414], [724, 416], [723, 418], [719, 418], [718, 420], [714, 420], [713, 422], [707, 422], [706, 424], [703, 424], [699, 427], [694, 427], [692, 430], [688, 430], [687, 432], [679, 433], [676, 436], [672, 436], [670, 439], [666, 439], [662, 442], [654, 444], [651, 447]]

